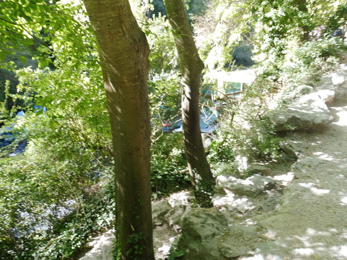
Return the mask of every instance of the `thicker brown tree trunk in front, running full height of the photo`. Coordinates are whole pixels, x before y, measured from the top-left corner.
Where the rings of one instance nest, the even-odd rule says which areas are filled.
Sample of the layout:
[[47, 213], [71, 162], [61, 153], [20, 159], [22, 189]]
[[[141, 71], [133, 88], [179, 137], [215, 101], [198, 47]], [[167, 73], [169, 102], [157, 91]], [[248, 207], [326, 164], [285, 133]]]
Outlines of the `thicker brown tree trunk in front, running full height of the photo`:
[[128, 0], [83, 0], [99, 46], [115, 150], [121, 259], [154, 259], [151, 216], [149, 45]]

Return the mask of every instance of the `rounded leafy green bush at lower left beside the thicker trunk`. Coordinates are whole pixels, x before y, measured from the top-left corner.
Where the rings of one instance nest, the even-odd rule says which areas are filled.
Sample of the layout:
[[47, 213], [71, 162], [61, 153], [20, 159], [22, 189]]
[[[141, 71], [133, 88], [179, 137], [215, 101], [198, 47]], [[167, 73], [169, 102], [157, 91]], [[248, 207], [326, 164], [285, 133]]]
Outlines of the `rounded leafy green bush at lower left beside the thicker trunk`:
[[[35, 112], [8, 123], [15, 140], [0, 153], [0, 259], [67, 259], [112, 225], [113, 185], [96, 184], [112, 178], [110, 144], [72, 116], [51, 123]], [[14, 154], [22, 141], [25, 152]]]

